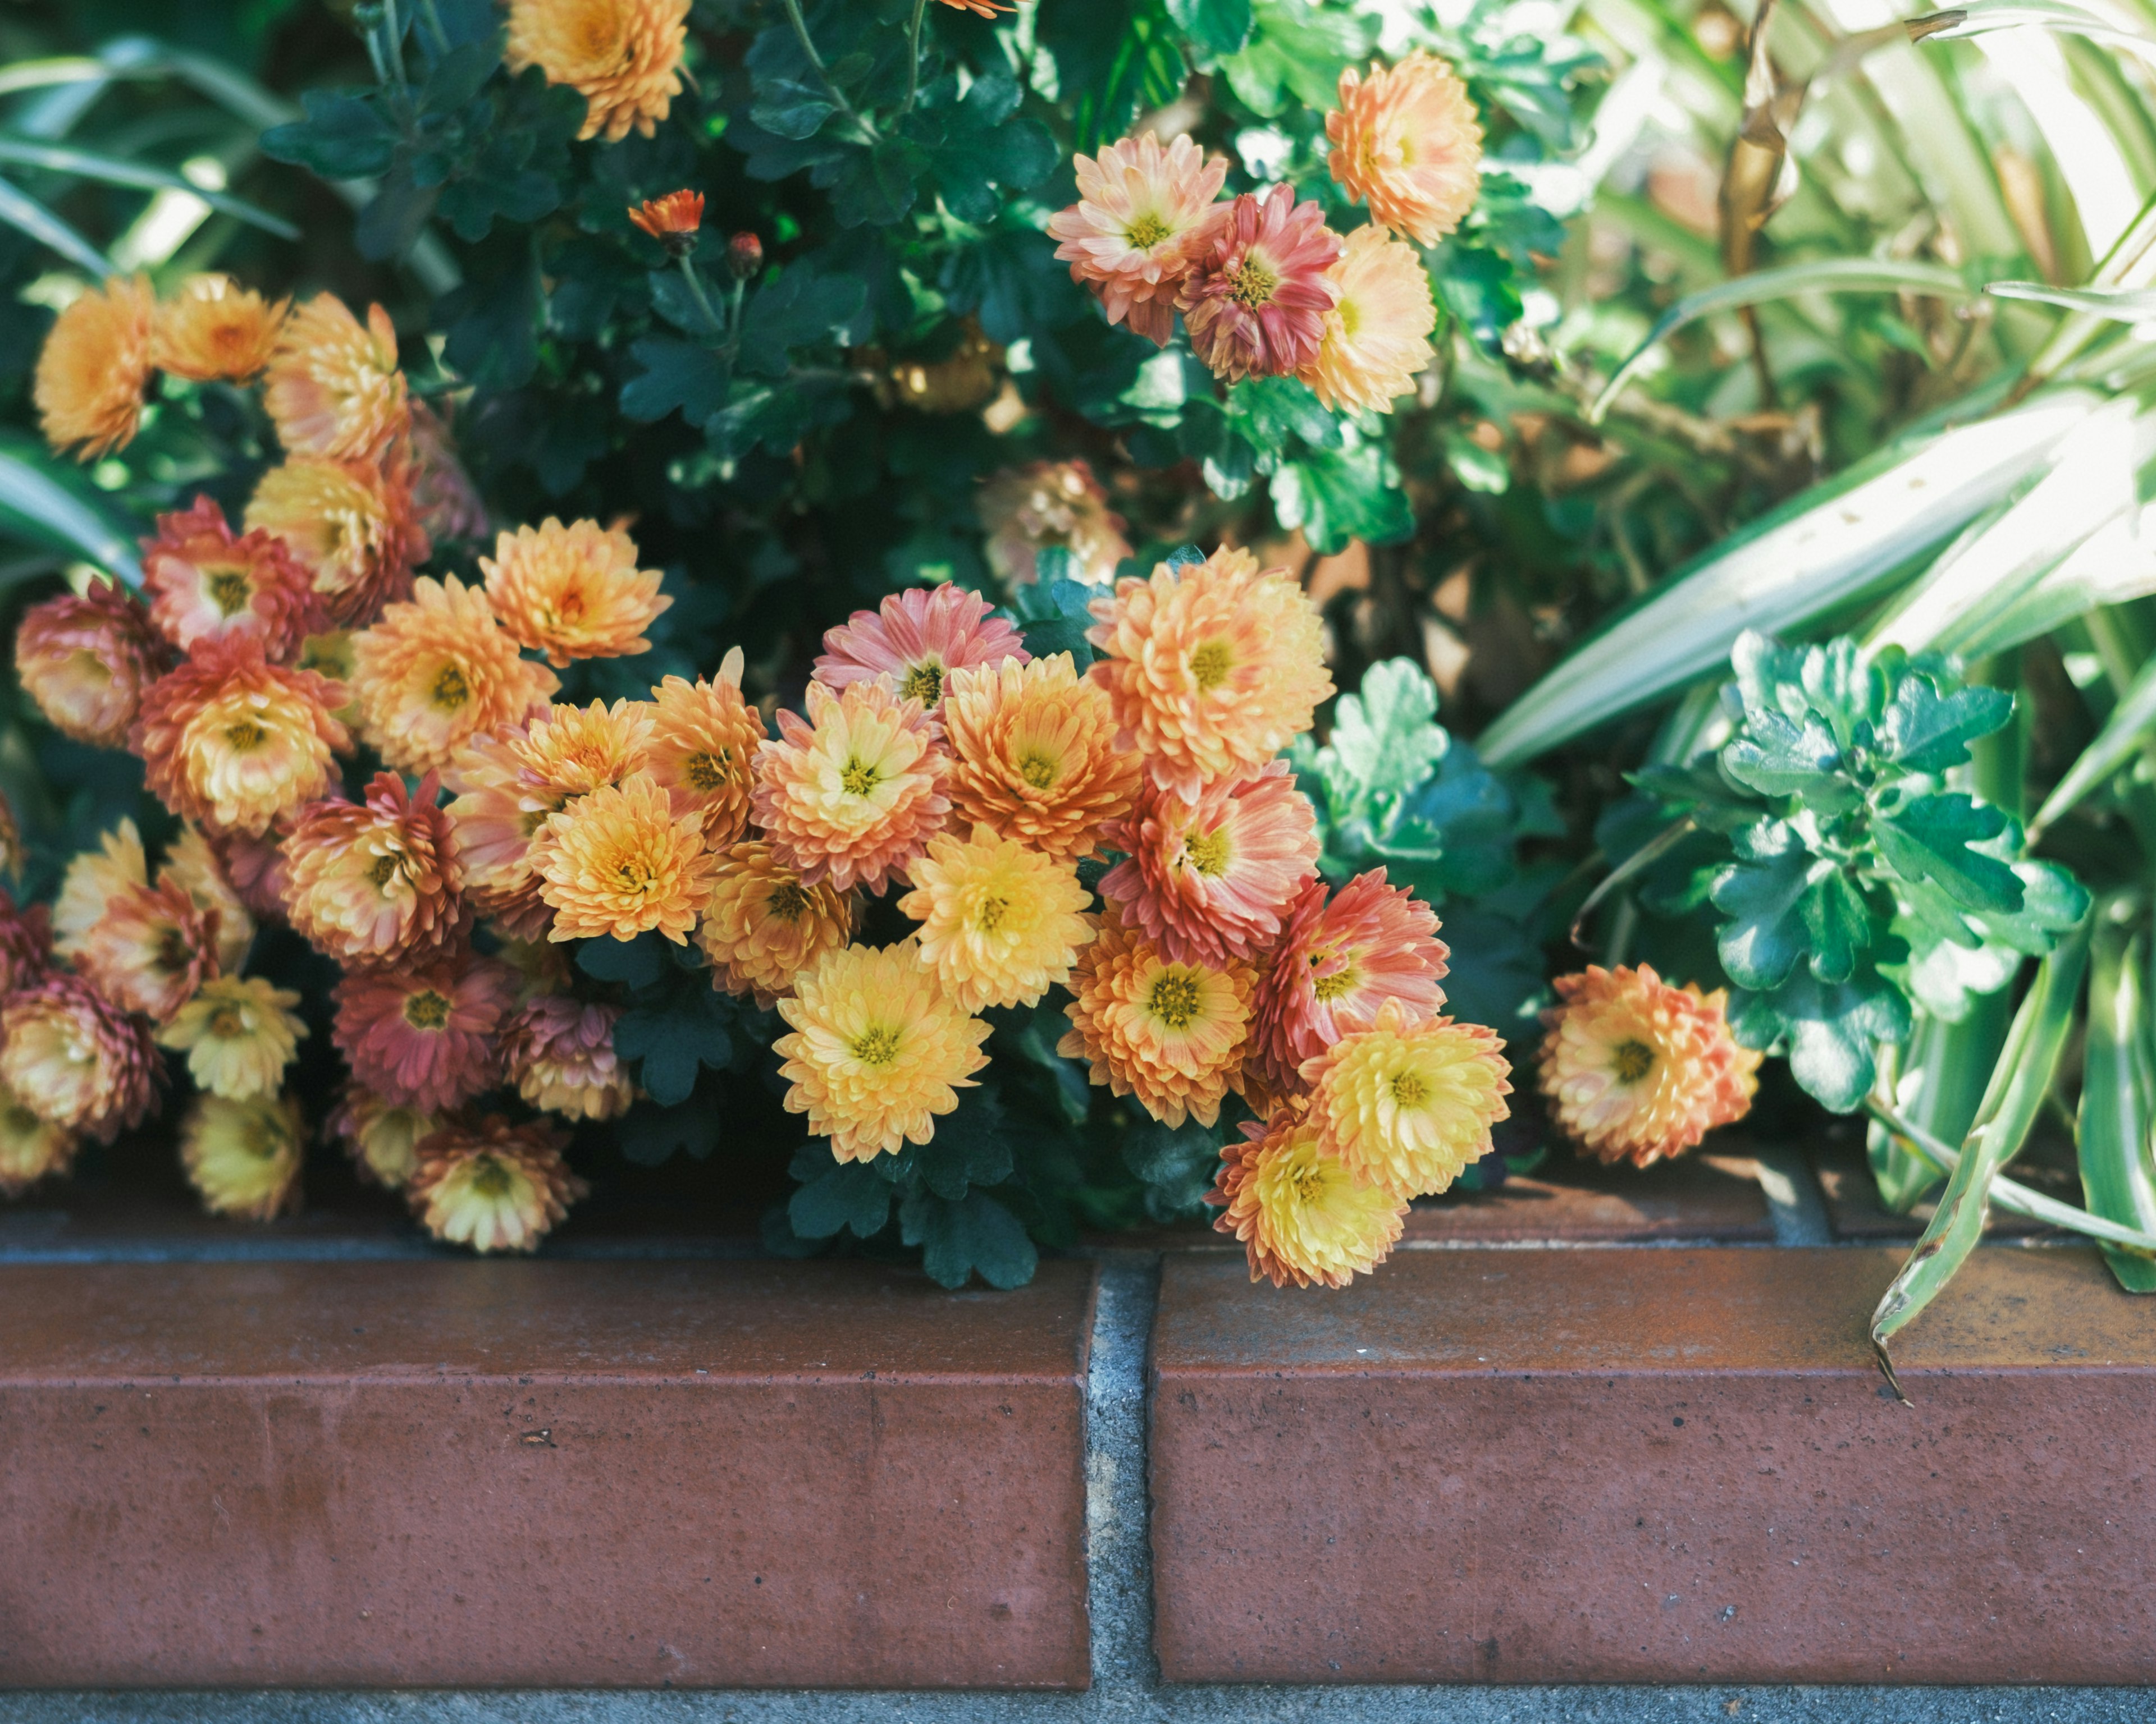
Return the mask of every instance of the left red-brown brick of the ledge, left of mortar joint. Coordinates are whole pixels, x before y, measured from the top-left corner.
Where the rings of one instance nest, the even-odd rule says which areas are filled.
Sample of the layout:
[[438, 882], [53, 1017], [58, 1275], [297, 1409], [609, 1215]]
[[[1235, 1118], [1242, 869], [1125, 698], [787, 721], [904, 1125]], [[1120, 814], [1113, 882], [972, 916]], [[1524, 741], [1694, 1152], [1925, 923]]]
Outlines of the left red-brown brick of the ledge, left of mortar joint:
[[1087, 1265], [15, 1265], [0, 1308], [0, 1685], [1087, 1685]]

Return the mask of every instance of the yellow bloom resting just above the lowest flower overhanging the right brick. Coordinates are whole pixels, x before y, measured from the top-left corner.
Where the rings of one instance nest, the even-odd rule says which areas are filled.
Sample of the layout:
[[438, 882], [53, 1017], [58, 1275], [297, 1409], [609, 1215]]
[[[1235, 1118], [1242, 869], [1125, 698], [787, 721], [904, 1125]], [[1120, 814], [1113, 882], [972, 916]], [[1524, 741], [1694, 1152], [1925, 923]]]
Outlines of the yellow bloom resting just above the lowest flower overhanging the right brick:
[[1490, 1153], [1490, 1127], [1509, 1114], [1503, 1049], [1481, 1024], [1386, 1000], [1373, 1028], [1302, 1062], [1311, 1121], [1358, 1179], [1395, 1198], [1432, 1196]]

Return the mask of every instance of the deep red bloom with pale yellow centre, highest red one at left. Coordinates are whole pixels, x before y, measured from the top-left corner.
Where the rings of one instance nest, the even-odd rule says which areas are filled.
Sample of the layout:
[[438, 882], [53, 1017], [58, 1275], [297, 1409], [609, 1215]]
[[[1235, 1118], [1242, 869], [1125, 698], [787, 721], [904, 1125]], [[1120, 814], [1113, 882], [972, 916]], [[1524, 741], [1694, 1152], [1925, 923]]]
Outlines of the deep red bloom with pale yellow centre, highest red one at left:
[[287, 664], [326, 625], [315, 578], [274, 532], [235, 534], [213, 498], [157, 517], [142, 541], [142, 586], [160, 634], [183, 653], [196, 640], [252, 634]]

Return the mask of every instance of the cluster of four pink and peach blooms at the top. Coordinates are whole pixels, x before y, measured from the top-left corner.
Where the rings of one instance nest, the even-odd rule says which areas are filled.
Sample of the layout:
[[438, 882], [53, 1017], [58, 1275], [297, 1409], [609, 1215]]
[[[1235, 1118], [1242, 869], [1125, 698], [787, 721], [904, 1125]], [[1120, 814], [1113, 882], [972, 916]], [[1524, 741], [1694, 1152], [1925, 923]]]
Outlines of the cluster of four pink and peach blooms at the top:
[[1453, 69], [1414, 52], [1343, 71], [1326, 136], [1332, 179], [1371, 213], [1345, 237], [1291, 185], [1220, 200], [1225, 157], [1147, 131], [1076, 157], [1078, 203], [1048, 222], [1056, 256], [1110, 323], [1162, 347], [1181, 312], [1218, 377], [1300, 377], [1326, 407], [1388, 412], [1432, 360], [1416, 246], [1475, 207], [1481, 125]]

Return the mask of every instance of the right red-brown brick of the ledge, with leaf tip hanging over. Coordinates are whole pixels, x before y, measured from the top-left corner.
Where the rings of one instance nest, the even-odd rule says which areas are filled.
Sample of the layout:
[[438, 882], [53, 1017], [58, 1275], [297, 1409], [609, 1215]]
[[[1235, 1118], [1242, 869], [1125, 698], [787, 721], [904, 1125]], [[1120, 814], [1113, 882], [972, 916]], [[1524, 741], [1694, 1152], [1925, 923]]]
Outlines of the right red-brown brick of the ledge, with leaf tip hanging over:
[[2156, 1325], [1986, 1248], [1871, 1366], [1891, 1250], [1169, 1261], [1171, 1681], [2156, 1679]]

